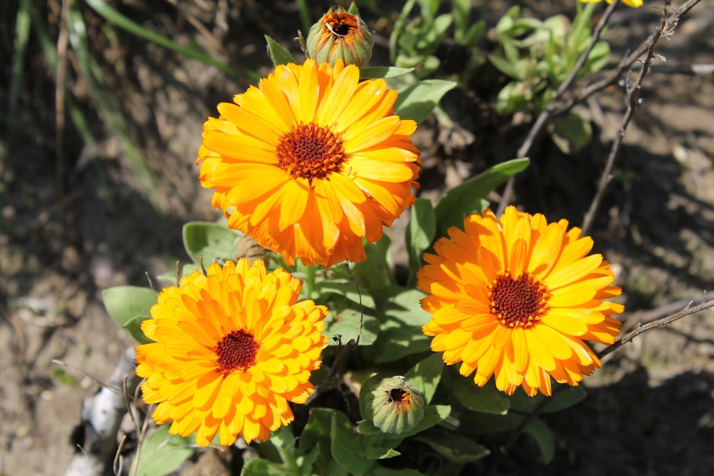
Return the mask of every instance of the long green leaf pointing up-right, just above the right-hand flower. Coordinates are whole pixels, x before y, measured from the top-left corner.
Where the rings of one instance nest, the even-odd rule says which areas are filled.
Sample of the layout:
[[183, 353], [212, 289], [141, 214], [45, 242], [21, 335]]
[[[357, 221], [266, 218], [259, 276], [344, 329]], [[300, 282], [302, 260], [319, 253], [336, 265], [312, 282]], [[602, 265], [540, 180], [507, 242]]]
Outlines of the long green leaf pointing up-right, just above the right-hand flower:
[[436, 236], [446, 236], [450, 226], [462, 228], [463, 218], [471, 213], [483, 213], [488, 206], [488, 193], [527, 166], [528, 158], [514, 158], [499, 163], [448, 191], [436, 206]]

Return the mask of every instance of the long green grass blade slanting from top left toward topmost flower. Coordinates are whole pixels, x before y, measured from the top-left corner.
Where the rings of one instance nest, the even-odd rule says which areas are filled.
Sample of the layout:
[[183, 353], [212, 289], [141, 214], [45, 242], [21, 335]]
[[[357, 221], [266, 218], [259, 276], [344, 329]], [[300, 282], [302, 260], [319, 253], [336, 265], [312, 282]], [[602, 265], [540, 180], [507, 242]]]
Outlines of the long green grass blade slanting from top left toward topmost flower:
[[129, 33], [133, 35], [139, 36], [139, 38], [143, 38], [170, 51], [182, 54], [183, 56], [186, 56], [186, 58], [195, 59], [197, 61], [201, 61], [203, 64], [215, 66], [217, 69], [223, 71], [223, 73], [231, 76], [240, 76], [242, 74], [243, 76], [251, 79], [251, 81], [258, 81], [258, 79], [260, 79], [260, 75], [258, 75], [256, 71], [251, 71], [250, 69], [238, 71], [235, 67], [224, 63], [223, 61], [211, 58], [211, 56], [208, 56], [206, 53], [197, 48], [180, 45], [175, 41], [171, 41], [171, 39], [166, 38], [166, 36], [162, 36], [154, 31], [144, 28], [136, 22], [126, 18], [126, 16], [120, 14], [119, 11], [111, 8], [111, 6], [106, 4], [103, 0], [86, 0], [86, 4], [99, 14], [99, 16], [106, 19], [106, 21], [119, 26], [121, 29], [129, 31]]

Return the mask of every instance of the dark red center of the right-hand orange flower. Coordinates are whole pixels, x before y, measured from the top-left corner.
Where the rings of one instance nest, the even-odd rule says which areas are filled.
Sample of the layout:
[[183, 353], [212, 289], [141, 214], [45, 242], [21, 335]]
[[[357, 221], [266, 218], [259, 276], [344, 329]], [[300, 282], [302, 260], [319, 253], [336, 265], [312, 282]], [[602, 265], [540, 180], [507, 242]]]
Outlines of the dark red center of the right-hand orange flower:
[[528, 273], [513, 279], [506, 272], [488, 285], [491, 313], [507, 328], [531, 328], [548, 310], [550, 291]]

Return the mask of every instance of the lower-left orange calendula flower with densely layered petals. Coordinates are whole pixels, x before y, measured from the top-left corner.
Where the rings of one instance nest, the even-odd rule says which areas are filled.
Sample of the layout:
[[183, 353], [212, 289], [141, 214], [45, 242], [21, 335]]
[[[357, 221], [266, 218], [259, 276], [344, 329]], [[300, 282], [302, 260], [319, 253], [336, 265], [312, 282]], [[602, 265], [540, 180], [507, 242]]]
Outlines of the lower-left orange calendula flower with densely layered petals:
[[196, 432], [198, 445], [216, 433], [221, 445], [238, 435], [266, 441], [288, 425], [288, 402], [312, 393], [311, 370], [327, 345], [327, 309], [297, 302], [302, 282], [285, 270], [266, 273], [245, 258], [194, 271], [165, 288], [141, 330], [154, 343], [136, 347], [136, 373], [146, 382], [154, 420], [173, 420], [169, 432]]

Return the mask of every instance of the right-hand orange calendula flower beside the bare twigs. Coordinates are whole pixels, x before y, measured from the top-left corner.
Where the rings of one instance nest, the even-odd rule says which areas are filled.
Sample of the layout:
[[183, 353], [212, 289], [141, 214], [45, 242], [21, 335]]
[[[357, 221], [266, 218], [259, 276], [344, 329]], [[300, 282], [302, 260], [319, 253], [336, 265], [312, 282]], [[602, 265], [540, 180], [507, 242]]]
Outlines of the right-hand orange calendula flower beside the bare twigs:
[[492, 211], [450, 228], [451, 240], [434, 245], [436, 255], [418, 273], [428, 295], [421, 306], [433, 314], [423, 333], [447, 364], [461, 362], [461, 375], [474, 373], [483, 386], [513, 395], [551, 395], [551, 380], [578, 385], [600, 367], [585, 340], [611, 344], [623, 306], [610, 263], [588, 255], [590, 237], [568, 221], [547, 223], [509, 206], [499, 220]]

